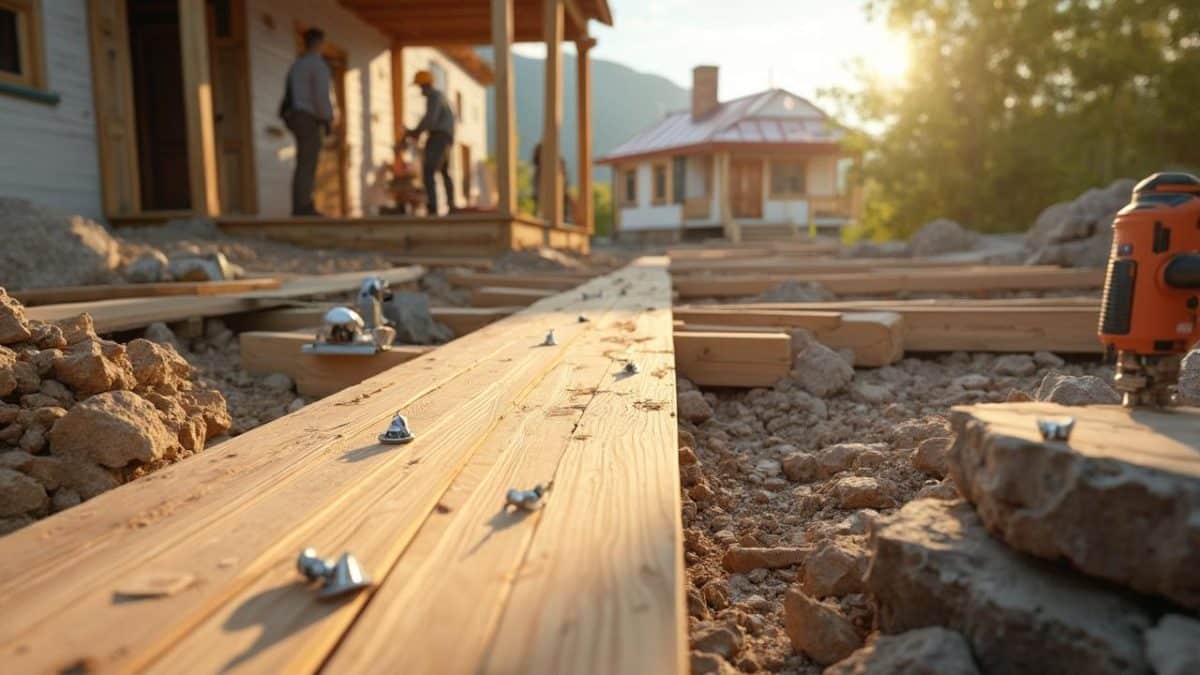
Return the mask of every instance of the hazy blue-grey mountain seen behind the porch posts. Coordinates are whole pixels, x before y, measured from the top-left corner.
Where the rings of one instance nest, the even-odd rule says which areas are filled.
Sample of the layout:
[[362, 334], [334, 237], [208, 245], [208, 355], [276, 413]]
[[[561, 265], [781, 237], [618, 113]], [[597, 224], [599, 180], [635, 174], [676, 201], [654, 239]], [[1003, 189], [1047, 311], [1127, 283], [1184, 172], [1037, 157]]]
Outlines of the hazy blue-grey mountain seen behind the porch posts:
[[[529, 162], [541, 138], [542, 59], [512, 55], [516, 88], [517, 147], [521, 161]], [[575, 172], [576, 132], [575, 55], [563, 54], [563, 132], [560, 143], [569, 172]], [[592, 60], [592, 149], [596, 157], [620, 145], [638, 131], [671, 112], [691, 104], [691, 94], [670, 79], [637, 72], [629, 66]], [[494, 90], [488, 90], [487, 144], [496, 147]], [[595, 180], [608, 180], [608, 167], [596, 167]], [[572, 178], [574, 181], [574, 178]]]

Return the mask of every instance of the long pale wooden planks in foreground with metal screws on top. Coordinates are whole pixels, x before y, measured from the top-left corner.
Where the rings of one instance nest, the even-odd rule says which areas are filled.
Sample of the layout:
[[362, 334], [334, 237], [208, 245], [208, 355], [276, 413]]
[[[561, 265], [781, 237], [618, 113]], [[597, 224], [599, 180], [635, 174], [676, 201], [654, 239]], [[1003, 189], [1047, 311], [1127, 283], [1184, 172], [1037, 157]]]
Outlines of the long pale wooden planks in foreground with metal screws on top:
[[[665, 264], [541, 300], [0, 539], [0, 661], [684, 673]], [[550, 329], [558, 345], [541, 346]], [[416, 440], [380, 446], [396, 411]], [[509, 489], [551, 482], [542, 509], [504, 508]], [[377, 586], [319, 602], [295, 569], [305, 546], [352, 551]]]

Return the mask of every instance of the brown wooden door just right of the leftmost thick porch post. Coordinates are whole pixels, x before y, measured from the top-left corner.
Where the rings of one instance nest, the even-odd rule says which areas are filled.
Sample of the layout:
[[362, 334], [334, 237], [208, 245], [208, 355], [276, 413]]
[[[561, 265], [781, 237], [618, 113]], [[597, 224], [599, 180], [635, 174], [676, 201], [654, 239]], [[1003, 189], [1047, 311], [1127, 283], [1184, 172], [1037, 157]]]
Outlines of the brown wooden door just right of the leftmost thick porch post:
[[258, 210], [250, 112], [250, 61], [242, 0], [208, 0], [209, 72], [221, 209]]

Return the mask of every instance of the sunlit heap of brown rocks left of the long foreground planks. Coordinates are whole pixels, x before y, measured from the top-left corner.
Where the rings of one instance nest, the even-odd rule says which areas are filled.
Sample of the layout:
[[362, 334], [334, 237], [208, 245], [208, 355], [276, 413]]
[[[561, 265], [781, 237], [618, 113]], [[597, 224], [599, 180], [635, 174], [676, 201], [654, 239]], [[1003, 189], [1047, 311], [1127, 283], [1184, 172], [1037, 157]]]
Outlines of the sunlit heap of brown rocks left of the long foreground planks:
[[170, 346], [25, 318], [0, 288], [0, 533], [204, 449], [220, 392]]

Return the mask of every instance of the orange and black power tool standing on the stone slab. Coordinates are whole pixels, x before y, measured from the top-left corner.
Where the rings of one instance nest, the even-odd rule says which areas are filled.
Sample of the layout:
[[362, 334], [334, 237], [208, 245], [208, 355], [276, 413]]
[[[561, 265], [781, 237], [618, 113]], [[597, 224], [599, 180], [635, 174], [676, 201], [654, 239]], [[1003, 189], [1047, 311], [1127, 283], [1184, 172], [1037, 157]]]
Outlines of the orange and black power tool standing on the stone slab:
[[1123, 404], [1169, 405], [1183, 354], [1200, 340], [1200, 179], [1156, 173], [1112, 221], [1100, 342], [1116, 352]]

